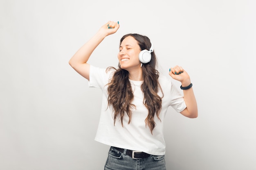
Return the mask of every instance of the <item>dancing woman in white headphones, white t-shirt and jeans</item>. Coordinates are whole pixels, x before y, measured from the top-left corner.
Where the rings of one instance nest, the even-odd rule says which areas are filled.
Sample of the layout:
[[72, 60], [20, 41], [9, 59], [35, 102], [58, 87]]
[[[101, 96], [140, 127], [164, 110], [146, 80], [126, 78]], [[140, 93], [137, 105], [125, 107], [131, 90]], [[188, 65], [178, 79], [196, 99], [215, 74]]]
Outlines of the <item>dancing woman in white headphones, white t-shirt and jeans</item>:
[[169, 75], [181, 82], [183, 95], [170, 78], [156, 70], [157, 59], [148, 37], [121, 38], [118, 68], [97, 68], [87, 63], [94, 49], [119, 22], [109, 21], [70, 59], [70, 65], [103, 92], [95, 140], [110, 147], [105, 170], [165, 170], [164, 116], [169, 106], [189, 118], [198, 116], [189, 74], [180, 66]]

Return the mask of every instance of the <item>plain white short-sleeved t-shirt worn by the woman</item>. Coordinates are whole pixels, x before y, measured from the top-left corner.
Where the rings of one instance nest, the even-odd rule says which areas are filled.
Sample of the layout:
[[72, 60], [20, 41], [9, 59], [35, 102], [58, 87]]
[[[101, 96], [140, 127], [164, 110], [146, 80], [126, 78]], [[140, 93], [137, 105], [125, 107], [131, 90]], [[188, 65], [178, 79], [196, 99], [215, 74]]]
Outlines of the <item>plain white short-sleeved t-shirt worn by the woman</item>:
[[[186, 108], [183, 95], [172, 85], [170, 79], [162, 75], [159, 76], [158, 81], [162, 87], [164, 98], [162, 98], [162, 109], [159, 114], [161, 121], [155, 116], [156, 126], [152, 135], [145, 123], [148, 110], [143, 105], [143, 93], [140, 88], [143, 81], [130, 80], [134, 95], [132, 104], [136, 106], [136, 109], [132, 108], [130, 124], [128, 124], [129, 117], [125, 114], [123, 118], [124, 126], [121, 125], [120, 119], [116, 120], [114, 126], [113, 109], [108, 107], [108, 85], [106, 85], [110, 82], [114, 72], [115, 70], [106, 72], [106, 69], [90, 65], [89, 87], [100, 88], [103, 92], [101, 116], [95, 140], [109, 146], [137, 150], [151, 155], [164, 155], [164, 117], [169, 106], [172, 106], [177, 112]], [[160, 90], [158, 95], [162, 97]]]

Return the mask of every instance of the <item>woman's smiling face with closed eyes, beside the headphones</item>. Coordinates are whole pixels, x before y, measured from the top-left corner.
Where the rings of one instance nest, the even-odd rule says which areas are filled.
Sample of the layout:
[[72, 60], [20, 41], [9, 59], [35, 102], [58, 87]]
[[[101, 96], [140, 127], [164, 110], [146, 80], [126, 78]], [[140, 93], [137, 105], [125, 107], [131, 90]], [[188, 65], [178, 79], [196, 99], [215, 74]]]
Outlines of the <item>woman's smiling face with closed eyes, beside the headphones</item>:
[[119, 47], [118, 60], [120, 67], [128, 72], [132, 69], [141, 69], [140, 51], [138, 42], [132, 36], [126, 37]]

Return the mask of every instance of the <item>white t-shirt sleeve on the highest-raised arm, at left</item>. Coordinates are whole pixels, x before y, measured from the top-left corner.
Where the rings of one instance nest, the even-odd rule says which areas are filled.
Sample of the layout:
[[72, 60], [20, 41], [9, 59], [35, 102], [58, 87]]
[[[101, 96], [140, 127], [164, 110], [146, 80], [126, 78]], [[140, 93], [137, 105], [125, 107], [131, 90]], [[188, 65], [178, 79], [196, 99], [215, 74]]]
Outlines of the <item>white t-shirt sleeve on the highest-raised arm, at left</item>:
[[88, 81], [89, 87], [96, 87], [103, 89], [108, 84], [110, 73], [106, 72], [104, 68], [97, 68], [90, 65], [90, 81]]

